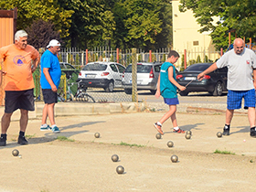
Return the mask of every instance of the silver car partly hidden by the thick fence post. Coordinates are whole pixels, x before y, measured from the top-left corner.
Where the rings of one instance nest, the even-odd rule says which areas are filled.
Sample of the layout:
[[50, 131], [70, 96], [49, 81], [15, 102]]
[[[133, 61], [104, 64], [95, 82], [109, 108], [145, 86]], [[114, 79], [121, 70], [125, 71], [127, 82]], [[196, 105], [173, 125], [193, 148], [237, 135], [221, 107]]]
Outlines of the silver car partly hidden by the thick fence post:
[[[148, 90], [155, 94], [162, 63], [137, 63], [137, 90]], [[132, 94], [132, 64], [123, 73], [122, 84], [126, 94]]]

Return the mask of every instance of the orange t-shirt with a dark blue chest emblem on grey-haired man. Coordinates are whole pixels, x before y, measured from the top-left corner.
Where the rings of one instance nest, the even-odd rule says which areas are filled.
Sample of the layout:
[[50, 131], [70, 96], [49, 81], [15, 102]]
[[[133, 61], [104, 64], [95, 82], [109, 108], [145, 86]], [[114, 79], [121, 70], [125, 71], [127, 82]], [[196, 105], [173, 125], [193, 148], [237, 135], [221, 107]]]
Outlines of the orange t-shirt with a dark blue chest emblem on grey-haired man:
[[25, 49], [16, 48], [15, 44], [0, 48], [0, 59], [4, 59], [3, 69], [5, 91], [24, 91], [35, 87], [31, 66], [39, 59], [36, 48], [27, 45]]

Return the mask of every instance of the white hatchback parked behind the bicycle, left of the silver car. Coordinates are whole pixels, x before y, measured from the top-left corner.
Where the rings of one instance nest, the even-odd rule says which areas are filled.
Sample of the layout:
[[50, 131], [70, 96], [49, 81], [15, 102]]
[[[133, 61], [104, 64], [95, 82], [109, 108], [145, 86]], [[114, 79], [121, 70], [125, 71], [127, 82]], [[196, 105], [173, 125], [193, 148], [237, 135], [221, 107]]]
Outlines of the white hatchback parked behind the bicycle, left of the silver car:
[[85, 89], [103, 88], [112, 92], [114, 88], [122, 88], [122, 76], [125, 67], [116, 62], [96, 61], [85, 65], [79, 74], [80, 85]]

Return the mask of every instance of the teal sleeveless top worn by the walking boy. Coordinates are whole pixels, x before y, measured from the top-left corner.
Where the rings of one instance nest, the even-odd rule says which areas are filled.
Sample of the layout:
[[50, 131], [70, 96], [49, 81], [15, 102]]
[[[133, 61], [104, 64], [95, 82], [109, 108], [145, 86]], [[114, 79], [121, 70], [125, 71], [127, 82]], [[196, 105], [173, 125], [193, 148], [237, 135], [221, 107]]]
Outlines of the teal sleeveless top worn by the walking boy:
[[160, 69], [160, 91], [164, 98], [177, 98], [176, 86], [171, 83], [168, 77], [168, 69], [173, 68], [173, 77], [176, 80], [176, 68], [170, 62], [165, 62], [162, 64]]

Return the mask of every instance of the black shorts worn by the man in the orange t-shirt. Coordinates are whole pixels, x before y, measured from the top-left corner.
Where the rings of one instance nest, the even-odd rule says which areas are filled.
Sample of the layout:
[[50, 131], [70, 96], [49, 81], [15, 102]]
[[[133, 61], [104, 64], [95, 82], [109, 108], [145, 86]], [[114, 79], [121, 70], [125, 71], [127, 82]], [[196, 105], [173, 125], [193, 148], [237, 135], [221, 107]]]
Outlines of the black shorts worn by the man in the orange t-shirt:
[[17, 109], [35, 111], [34, 89], [25, 91], [5, 91], [5, 112]]

